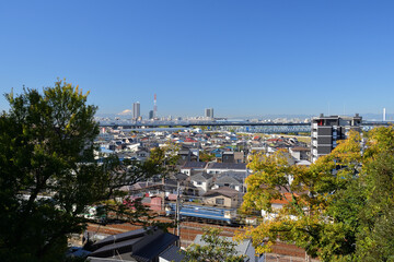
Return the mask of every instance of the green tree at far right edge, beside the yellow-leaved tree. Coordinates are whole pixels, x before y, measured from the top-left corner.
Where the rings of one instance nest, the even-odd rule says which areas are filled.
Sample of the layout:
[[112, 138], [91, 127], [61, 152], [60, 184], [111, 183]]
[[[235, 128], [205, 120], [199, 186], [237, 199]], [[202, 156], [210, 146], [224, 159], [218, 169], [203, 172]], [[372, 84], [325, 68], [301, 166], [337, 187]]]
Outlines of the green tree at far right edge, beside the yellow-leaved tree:
[[356, 235], [356, 259], [394, 261], [394, 129], [378, 128], [369, 133], [358, 180], [360, 209]]

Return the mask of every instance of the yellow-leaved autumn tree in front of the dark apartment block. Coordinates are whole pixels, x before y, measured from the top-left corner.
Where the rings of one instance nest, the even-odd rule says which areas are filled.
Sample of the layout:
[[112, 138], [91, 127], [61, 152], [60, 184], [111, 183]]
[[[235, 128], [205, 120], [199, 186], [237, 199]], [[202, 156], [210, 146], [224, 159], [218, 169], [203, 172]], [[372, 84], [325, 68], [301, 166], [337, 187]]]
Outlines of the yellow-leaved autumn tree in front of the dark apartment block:
[[[334, 212], [329, 207], [340, 200], [337, 193], [356, 179], [360, 157], [358, 133], [351, 133], [349, 140], [310, 168], [290, 166], [280, 151], [270, 156], [255, 155], [248, 165], [254, 172], [246, 179], [242, 210], [277, 214], [257, 227], [246, 227], [240, 238], [251, 237], [260, 253], [270, 251], [278, 239], [304, 248], [311, 257], [331, 259], [352, 252], [346, 239], [355, 238], [354, 228], [333, 223], [336, 217], [329, 216]], [[283, 207], [274, 210], [274, 200], [283, 201]]]

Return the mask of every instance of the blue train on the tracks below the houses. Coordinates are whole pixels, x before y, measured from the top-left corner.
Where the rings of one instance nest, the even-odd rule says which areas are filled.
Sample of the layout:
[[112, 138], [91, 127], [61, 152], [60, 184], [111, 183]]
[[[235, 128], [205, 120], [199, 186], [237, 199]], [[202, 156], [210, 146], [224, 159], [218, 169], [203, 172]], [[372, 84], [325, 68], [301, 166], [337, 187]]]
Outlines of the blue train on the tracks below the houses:
[[[169, 203], [165, 207], [165, 215], [175, 215], [176, 204]], [[235, 224], [236, 222], [236, 209], [223, 209], [216, 206], [196, 205], [196, 204], [182, 204], [181, 205], [181, 217], [187, 216], [196, 219], [212, 223], [225, 223], [229, 225]]]

